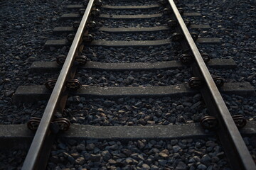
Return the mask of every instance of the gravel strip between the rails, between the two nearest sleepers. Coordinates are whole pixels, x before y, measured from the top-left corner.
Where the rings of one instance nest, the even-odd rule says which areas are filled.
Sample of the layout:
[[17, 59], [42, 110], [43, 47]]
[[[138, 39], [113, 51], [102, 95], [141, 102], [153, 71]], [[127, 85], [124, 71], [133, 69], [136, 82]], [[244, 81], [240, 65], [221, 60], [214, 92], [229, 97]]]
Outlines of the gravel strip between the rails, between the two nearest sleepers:
[[172, 98], [93, 98], [73, 96], [66, 106], [72, 123], [83, 125], [181, 125], [208, 115], [201, 95]]

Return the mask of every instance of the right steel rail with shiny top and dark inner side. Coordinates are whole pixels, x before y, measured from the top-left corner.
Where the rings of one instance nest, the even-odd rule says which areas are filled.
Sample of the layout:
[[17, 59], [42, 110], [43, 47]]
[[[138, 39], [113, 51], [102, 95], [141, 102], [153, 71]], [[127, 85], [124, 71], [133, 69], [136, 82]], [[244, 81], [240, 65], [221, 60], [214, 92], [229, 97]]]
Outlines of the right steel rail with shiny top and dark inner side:
[[217, 133], [220, 138], [220, 142], [223, 144], [230, 166], [233, 169], [238, 170], [256, 169], [250, 152], [248, 151], [245, 142], [242, 140], [240, 132], [236, 127], [233, 118], [231, 117], [230, 112], [228, 111], [228, 108], [213, 81], [213, 78], [210, 76], [210, 72], [203, 61], [203, 58], [201, 57], [201, 54], [196, 47], [181, 14], [178, 12], [176, 4], [173, 0], [169, 0], [169, 3], [196, 60], [193, 64], [193, 66], [196, 66], [196, 69], [195, 67], [192, 67], [193, 73], [197, 74], [197, 76], [203, 78], [205, 81], [205, 86], [201, 89], [201, 94], [206, 102], [210, 115], [214, 115], [218, 118], [219, 127]]

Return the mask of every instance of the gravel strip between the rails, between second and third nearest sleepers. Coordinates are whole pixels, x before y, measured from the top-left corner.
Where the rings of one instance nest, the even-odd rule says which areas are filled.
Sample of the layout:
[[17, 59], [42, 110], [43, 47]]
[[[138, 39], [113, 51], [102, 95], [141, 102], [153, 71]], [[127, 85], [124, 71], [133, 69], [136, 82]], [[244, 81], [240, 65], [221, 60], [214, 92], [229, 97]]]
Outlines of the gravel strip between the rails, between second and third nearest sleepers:
[[95, 86], [169, 86], [181, 84], [191, 77], [190, 69], [154, 72], [92, 72], [81, 70], [76, 77], [82, 84]]

